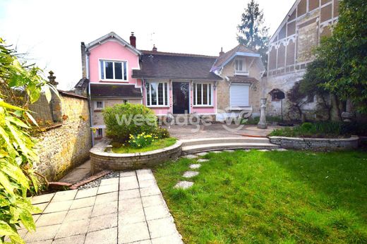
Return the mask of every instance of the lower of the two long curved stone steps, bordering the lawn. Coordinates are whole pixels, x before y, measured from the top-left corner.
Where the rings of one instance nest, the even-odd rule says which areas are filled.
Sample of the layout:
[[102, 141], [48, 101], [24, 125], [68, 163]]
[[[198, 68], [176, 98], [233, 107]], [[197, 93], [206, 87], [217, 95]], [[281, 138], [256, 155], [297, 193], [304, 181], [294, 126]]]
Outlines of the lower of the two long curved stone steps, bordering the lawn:
[[271, 143], [255, 143], [255, 142], [231, 142], [231, 143], [212, 143], [205, 145], [192, 145], [182, 147], [182, 154], [193, 154], [197, 152], [210, 152], [216, 150], [235, 150], [235, 149], [260, 149], [270, 150], [279, 148], [278, 145]]

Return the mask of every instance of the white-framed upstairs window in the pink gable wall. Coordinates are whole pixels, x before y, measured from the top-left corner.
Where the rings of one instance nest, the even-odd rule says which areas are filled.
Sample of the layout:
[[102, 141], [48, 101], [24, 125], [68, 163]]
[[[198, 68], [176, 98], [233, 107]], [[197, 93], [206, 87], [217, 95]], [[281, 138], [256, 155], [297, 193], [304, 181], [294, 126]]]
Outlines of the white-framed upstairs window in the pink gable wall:
[[126, 61], [100, 60], [101, 80], [126, 81], [128, 77]]

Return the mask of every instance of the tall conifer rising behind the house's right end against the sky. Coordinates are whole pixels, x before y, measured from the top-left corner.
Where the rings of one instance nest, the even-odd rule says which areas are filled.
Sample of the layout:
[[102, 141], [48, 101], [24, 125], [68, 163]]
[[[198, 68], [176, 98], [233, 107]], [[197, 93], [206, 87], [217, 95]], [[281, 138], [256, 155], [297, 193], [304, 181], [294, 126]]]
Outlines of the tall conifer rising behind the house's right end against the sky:
[[259, 9], [259, 4], [251, 0], [247, 4], [241, 16], [241, 24], [237, 26], [239, 35], [237, 40], [248, 49], [255, 49], [259, 52], [261, 59], [267, 67], [267, 43], [269, 42], [269, 28], [264, 25], [263, 10]]

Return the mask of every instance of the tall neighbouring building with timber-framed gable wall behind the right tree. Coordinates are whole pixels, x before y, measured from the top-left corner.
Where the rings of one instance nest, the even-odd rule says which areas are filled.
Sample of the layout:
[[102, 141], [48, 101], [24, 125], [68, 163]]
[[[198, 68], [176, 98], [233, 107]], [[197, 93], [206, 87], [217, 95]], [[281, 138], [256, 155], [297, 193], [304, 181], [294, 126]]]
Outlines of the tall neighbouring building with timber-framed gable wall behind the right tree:
[[[297, 0], [291, 7], [275, 34], [270, 38], [267, 77], [263, 97], [267, 97], [267, 114], [287, 114], [287, 92], [299, 82], [308, 63], [313, 61], [312, 49], [320, 37], [331, 35], [332, 25], [337, 22], [339, 0]], [[306, 114], [315, 118], [317, 98], [308, 98]]]

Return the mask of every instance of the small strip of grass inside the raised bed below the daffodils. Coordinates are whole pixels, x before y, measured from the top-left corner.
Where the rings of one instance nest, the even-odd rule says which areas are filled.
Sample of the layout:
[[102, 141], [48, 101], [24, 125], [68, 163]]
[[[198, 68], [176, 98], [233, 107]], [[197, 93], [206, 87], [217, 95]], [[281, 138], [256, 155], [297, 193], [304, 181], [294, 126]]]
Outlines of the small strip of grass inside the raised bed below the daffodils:
[[164, 138], [155, 140], [148, 147], [143, 148], [130, 147], [128, 145], [114, 145], [114, 147], [112, 147], [112, 151], [116, 153], [148, 152], [172, 146], [174, 143], [176, 143], [176, 138]]

